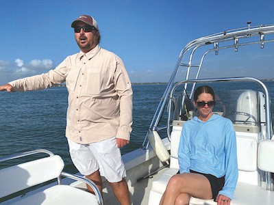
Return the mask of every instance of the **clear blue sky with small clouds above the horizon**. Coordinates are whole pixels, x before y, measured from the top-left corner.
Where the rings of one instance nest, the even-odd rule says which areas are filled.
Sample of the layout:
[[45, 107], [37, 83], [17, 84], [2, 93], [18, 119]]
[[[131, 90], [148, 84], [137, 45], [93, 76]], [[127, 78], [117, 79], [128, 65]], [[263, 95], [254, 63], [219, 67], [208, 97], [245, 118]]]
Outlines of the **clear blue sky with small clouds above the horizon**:
[[[271, 0], [1, 0], [0, 8], [0, 84], [47, 72], [77, 53], [71, 22], [81, 14], [97, 20], [101, 47], [123, 59], [134, 83], [169, 81], [180, 51], [190, 40], [245, 27], [247, 21], [274, 23]], [[268, 47], [253, 56], [271, 52], [274, 49]], [[273, 57], [263, 68], [249, 60], [249, 76], [274, 78], [273, 64]], [[238, 64], [226, 61], [222, 67], [212, 66], [203, 77], [245, 74]]]

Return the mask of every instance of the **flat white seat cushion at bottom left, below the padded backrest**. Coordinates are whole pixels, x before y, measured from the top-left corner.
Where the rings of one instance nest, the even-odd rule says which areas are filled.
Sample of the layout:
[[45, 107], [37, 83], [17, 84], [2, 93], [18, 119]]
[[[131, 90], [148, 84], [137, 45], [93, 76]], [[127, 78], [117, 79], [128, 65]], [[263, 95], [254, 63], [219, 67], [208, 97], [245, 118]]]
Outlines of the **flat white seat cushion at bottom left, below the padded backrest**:
[[68, 205], [68, 204], [99, 204], [96, 195], [71, 187], [69, 185], [56, 185], [45, 191], [40, 191], [34, 195], [25, 195], [21, 200], [12, 204], [49, 204], [49, 205]]

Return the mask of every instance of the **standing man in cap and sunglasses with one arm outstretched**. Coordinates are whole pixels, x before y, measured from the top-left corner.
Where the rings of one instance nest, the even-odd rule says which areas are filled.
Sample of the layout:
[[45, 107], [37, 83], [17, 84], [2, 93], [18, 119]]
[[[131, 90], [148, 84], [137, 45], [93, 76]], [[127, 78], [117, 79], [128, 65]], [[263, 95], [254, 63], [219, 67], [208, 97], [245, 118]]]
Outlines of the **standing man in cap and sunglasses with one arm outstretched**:
[[99, 46], [100, 33], [94, 18], [79, 16], [71, 27], [79, 53], [66, 57], [45, 74], [1, 85], [0, 91], [40, 90], [66, 81], [66, 137], [75, 167], [101, 192], [101, 176], [105, 176], [120, 204], [129, 204], [119, 148], [129, 143], [132, 131], [132, 84], [123, 61]]

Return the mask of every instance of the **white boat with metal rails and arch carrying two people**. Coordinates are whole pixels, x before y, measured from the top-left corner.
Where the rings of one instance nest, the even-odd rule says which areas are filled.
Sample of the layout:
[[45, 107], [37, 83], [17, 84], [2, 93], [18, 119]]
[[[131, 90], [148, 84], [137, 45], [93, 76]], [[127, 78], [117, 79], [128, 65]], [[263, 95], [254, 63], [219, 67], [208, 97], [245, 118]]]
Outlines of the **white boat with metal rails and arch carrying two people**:
[[[199, 84], [210, 84], [213, 87], [223, 86], [221, 92], [216, 92], [214, 113], [232, 120], [236, 131], [239, 177], [231, 204], [255, 205], [274, 203], [274, 137], [269, 87], [260, 79], [248, 76], [235, 77], [233, 74], [232, 77], [201, 78], [204, 59], [206, 59], [208, 54], [213, 53], [217, 59], [219, 53], [223, 51], [238, 53], [238, 50], [243, 47], [249, 48], [251, 46], [263, 49], [266, 44], [274, 42], [273, 34], [274, 25], [251, 26], [248, 23], [247, 27], [204, 36], [192, 40], [184, 46], [181, 53], [179, 53], [179, 59], [175, 64], [170, 81], [166, 85], [166, 90], [162, 98], [160, 98], [151, 124], [148, 125], [147, 135], [142, 147], [122, 156], [127, 170], [126, 180], [132, 204], [159, 204], [162, 193], [166, 189], [166, 184], [171, 176], [177, 173], [179, 169], [177, 161], [179, 137], [184, 122], [197, 115], [191, 100], [195, 87]], [[245, 69], [245, 65], [241, 65], [241, 68]], [[184, 80], [177, 79], [179, 69], [186, 70]], [[230, 89], [228, 86], [234, 88]], [[32, 154], [37, 152], [40, 151], [36, 150]], [[49, 153], [47, 150], [42, 152]], [[21, 156], [25, 156], [25, 153], [15, 154], [16, 159]], [[38, 160], [49, 160], [49, 158], [52, 159], [53, 157], [58, 158], [58, 163], [62, 164], [62, 159], [51, 152], [49, 156]], [[0, 162], [12, 159], [14, 159], [14, 154], [1, 157]], [[7, 197], [6, 189], [16, 187], [17, 182], [12, 176], [22, 172], [21, 169], [18, 169], [18, 166], [25, 167], [24, 169], [27, 170], [27, 173], [31, 172], [31, 174], [34, 172], [33, 166], [40, 166], [37, 165], [35, 160], [34, 163], [33, 160], [30, 161], [30, 164], [26, 165], [25, 163], [29, 162], [0, 170], [1, 199]], [[48, 163], [47, 165], [55, 169], [51, 164], [53, 163]], [[25, 178], [20, 181], [20, 184], [23, 184], [21, 189], [12, 189], [12, 191], [16, 191], [17, 195], [10, 195], [12, 193], [10, 191], [8, 192], [10, 197], [0, 202], [3, 204], [21, 204], [21, 200], [28, 200], [28, 197], [35, 198], [37, 193], [43, 193], [43, 191], [50, 189], [49, 187], [60, 186], [58, 185], [60, 184], [60, 176], [64, 177], [62, 178], [62, 184], [73, 187], [75, 190], [79, 189], [79, 191], [85, 192], [86, 184], [92, 184], [92, 182], [87, 181], [79, 174], [75, 176], [64, 173], [62, 168], [61, 165], [58, 172], [50, 177], [50, 179], [58, 178], [58, 182], [49, 182], [38, 189], [27, 191], [21, 190], [29, 187], [23, 183], [29, 177], [28, 174], [25, 174]], [[32, 171], [28, 171], [29, 169], [32, 169]], [[24, 177], [22, 174], [21, 176], [22, 178]], [[11, 181], [7, 179], [11, 179]], [[38, 184], [38, 182], [34, 184]], [[118, 204], [112, 189], [105, 180], [103, 180], [103, 200], [100, 193], [96, 191], [96, 187], [93, 186], [93, 188], [95, 190], [95, 195], [92, 196], [92, 200], [95, 200], [94, 204]], [[49, 197], [54, 197], [54, 194], [65, 194], [63, 196], [65, 198], [66, 195], [71, 197], [69, 193], [58, 192], [49, 195]], [[54, 201], [47, 199], [47, 195], [44, 194], [42, 197], [42, 200], [49, 200], [51, 204], [54, 204]], [[90, 195], [86, 197], [90, 197]], [[84, 200], [84, 197], [82, 200]], [[47, 204], [46, 202], [42, 203], [44, 201], [39, 202], [41, 203], [36, 202], [36, 204]], [[55, 204], [57, 203], [62, 204], [60, 202]], [[66, 203], [73, 204], [73, 202]], [[82, 202], [80, 204], [85, 203]], [[90, 204], [92, 204], [91, 201]], [[216, 202], [192, 197], [190, 204], [208, 205], [216, 204]]]

